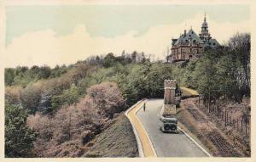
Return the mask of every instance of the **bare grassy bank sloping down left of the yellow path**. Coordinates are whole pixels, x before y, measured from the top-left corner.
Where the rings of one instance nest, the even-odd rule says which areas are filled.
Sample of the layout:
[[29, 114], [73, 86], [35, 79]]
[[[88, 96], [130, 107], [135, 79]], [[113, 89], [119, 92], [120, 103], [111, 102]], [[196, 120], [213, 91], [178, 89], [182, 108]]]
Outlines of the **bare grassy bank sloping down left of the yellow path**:
[[137, 157], [137, 142], [130, 121], [119, 115], [109, 127], [87, 144], [84, 157]]

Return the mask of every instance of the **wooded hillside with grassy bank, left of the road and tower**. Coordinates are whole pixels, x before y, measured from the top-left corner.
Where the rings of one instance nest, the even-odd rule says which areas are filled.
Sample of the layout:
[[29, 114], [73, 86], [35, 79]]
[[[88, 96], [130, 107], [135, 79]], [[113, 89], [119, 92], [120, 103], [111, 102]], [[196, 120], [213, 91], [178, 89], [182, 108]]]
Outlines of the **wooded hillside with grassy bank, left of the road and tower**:
[[[123, 115], [115, 116], [139, 99], [162, 97], [161, 87], [172, 77], [172, 65], [137, 63], [129, 55], [120, 58], [109, 53], [54, 69], [10, 68], [5, 75], [5, 109], [16, 115], [17, 105], [24, 111], [23, 126], [34, 137], [20, 142], [26, 153], [6, 145], [7, 157], [136, 157], [130, 123]], [[10, 135], [7, 140], [16, 140], [13, 131], [5, 130]]]

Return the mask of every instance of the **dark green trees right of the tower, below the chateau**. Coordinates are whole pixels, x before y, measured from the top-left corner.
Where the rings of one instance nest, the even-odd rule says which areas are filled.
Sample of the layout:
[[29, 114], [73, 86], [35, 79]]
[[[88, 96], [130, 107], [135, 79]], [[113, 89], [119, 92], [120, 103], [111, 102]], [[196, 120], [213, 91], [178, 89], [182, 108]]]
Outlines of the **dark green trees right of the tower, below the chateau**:
[[207, 49], [201, 59], [184, 68], [184, 85], [213, 98], [227, 95], [236, 102], [250, 96], [250, 35], [230, 38], [229, 47]]

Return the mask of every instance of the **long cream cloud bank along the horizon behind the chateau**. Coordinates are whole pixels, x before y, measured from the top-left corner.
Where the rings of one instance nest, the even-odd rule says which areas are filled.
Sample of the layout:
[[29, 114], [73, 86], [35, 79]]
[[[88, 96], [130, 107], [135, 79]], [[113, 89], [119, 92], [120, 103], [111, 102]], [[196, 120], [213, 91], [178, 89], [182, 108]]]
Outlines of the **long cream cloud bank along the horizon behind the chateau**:
[[[29, 32], [16, 37], [4, 54], [5, 67], [17, 65], [32, 66], [34, 64], [48, 64], [54, 67], [56, 64], [73, 64], [78, 60], [84, 60], [91, 55], [105, 53], [120, 54], [123, 50], [132, 53], [134, 50], [147, 54], [154, 54], [155, 59], [165, 57], [166, 47], [170, 45], [172, 37], [189, 30], [192, 25], [194, 31], [199, 34], [201, 30], [202, 15], [184, 20], [177, 25], [152, 26], [143, 35], [137, 36], [137, 31], [129, 31], [125, 35], [115, 37], [90, 36], [84, 25], [77, 25], [73, 33], [66, 36], [56, 36], [55, 31]], [[250, 31], [249, 21], [240, 23], [217, 23], [207, 18], [209, 31], [218, 42], [228, 41], [236, 32]]]

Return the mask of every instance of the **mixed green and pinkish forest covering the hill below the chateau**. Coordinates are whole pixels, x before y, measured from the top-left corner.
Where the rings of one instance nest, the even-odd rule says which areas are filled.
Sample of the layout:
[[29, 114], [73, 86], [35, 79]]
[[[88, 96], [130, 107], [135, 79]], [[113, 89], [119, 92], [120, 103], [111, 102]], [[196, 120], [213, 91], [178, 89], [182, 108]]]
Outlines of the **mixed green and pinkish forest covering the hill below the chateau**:
[[251, 94], [250, 44], [250, 34], [237, 33], [200, 59], [176, 64], [123, 51], [55, 68], [6, 68], [5, 156], [78, 157], [115, 115], [140, 99], [163, 98], [165, 79], [197, 90], [205, 100], [225, 96], [241, 103]]

